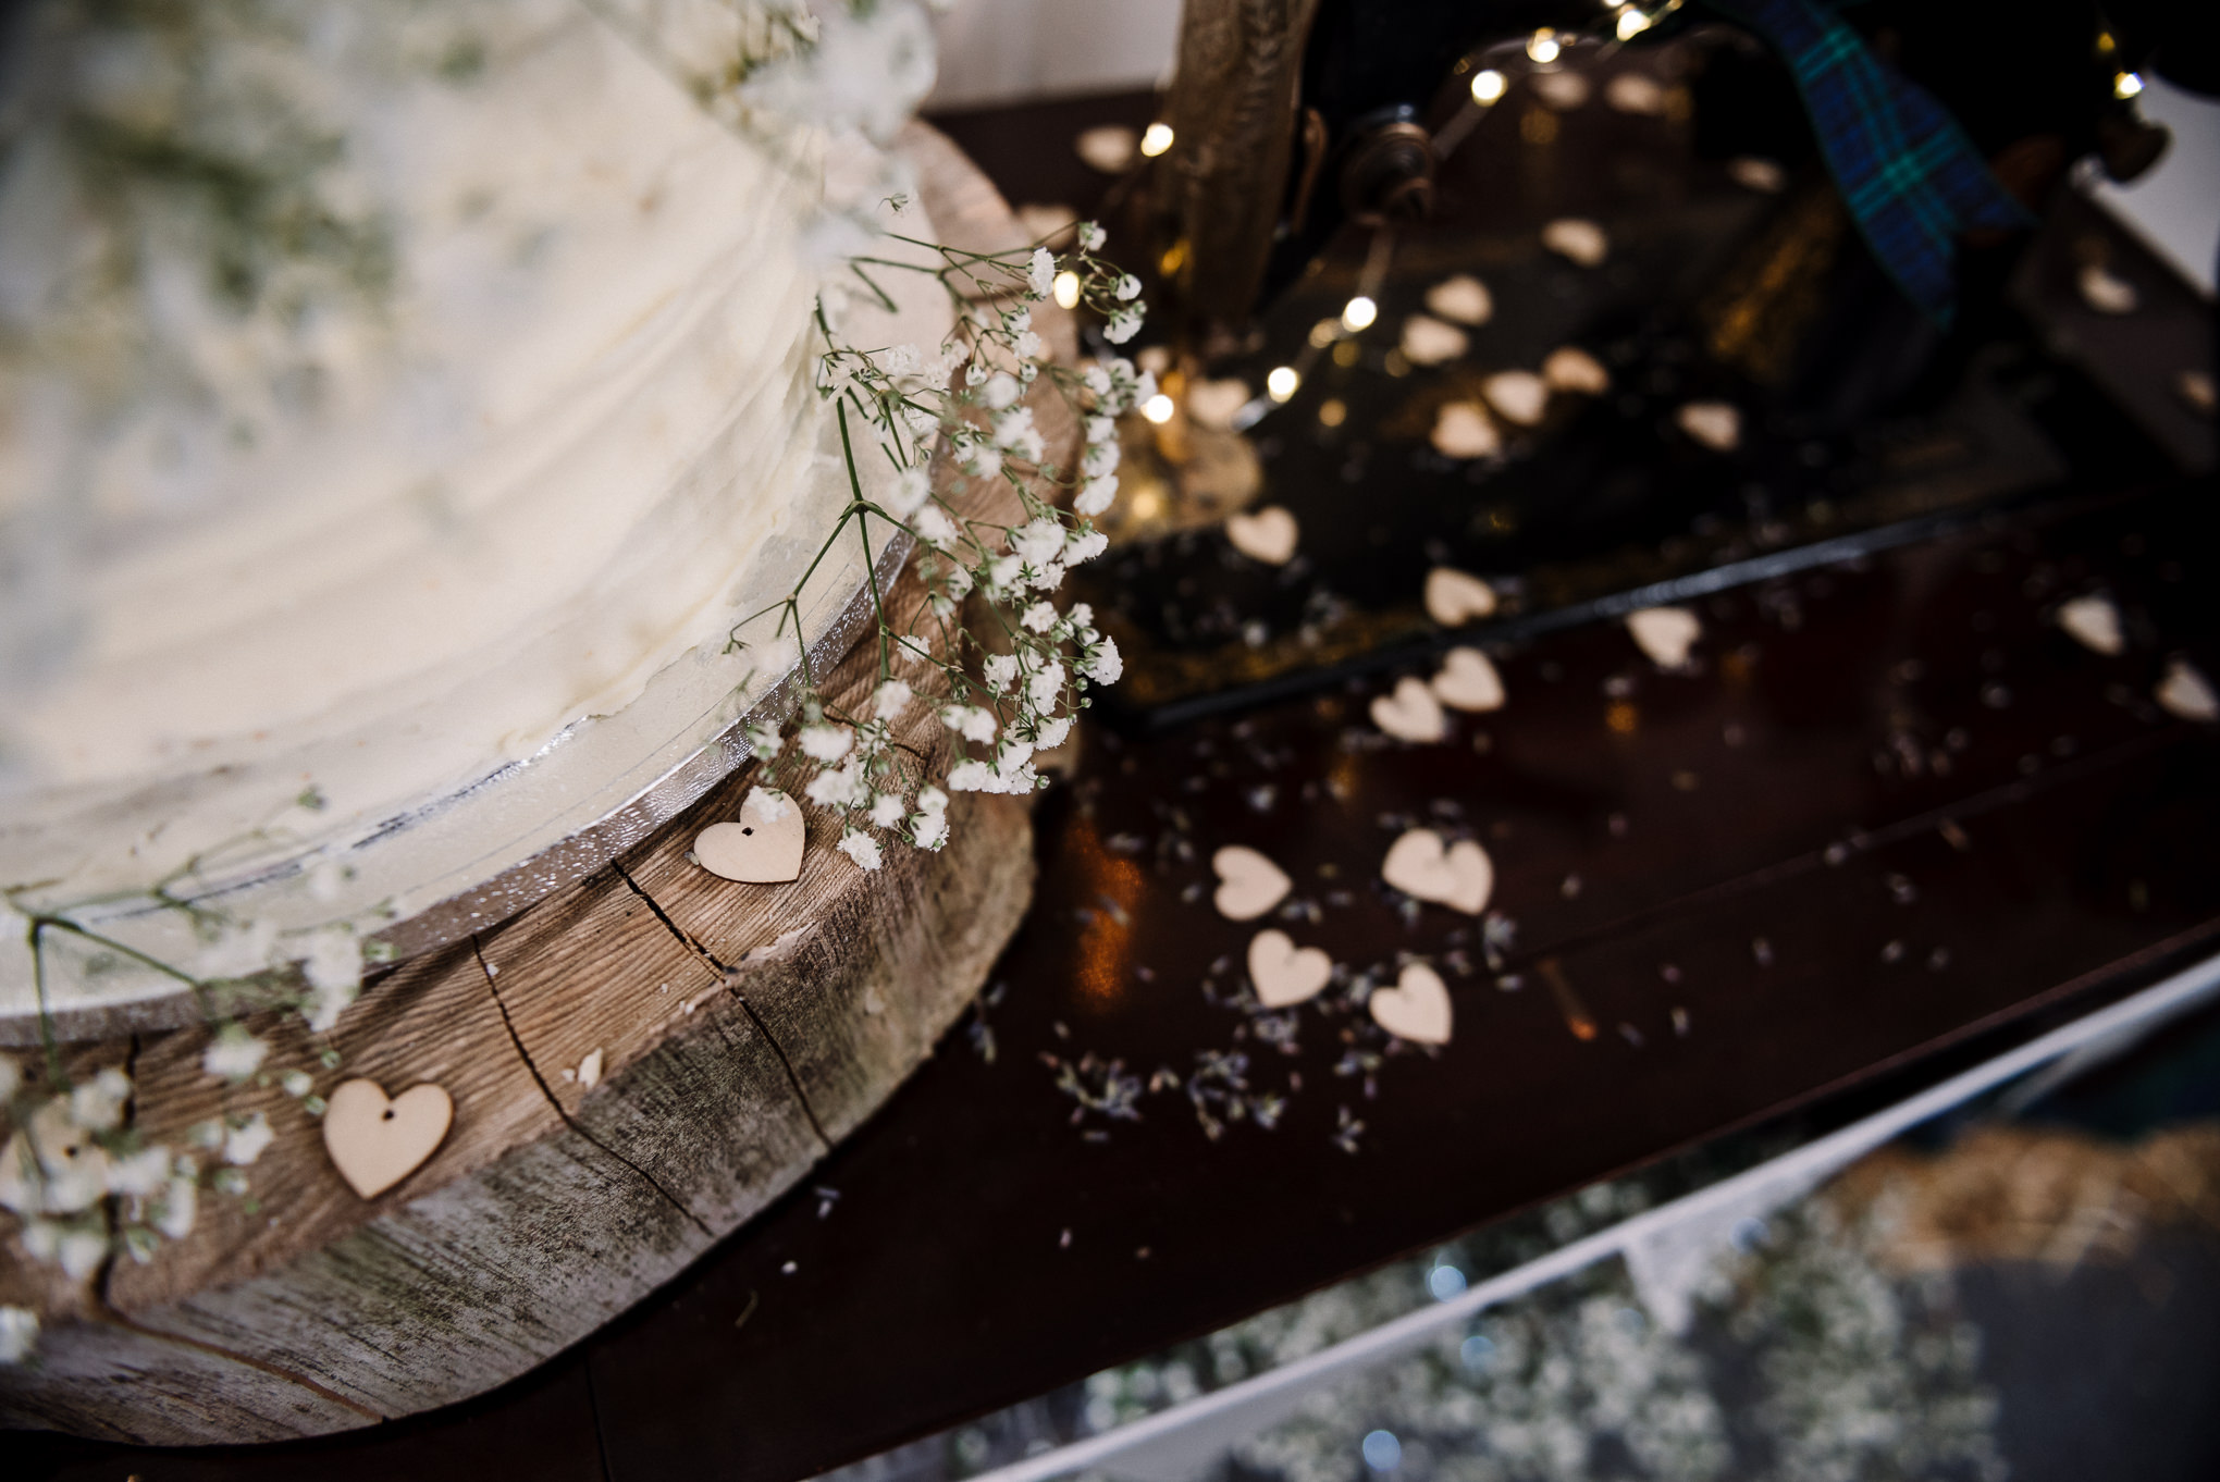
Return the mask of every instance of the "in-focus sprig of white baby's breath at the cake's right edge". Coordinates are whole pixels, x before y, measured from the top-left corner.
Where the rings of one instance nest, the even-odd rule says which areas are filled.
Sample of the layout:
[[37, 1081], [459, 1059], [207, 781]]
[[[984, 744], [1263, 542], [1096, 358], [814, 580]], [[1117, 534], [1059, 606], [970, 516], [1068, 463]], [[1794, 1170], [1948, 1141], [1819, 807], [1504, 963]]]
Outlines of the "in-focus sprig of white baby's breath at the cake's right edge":
[[[919, 346], [857, 351], [835, 339], [819, 359], [817, 388], [852, 433], [868, 428], [899, 470], [877, 499], [857, 501], [848, 519], [868, 537], [877, 519], [915, 535], [935, 555], [921, 559], [930, 601], [917, 632], [897, 628], [881, 597], [881, 683], [866, 714], [833, 714], [808, 688], [801, 725], [793, 737], [773, 728], [748, 732], [764, 763], [766, 785], [799, 763], [817, 774], [799, 796], [841, 819], [839, 847], [864, 870], [884, 865], [879, 834], [921, 850], [948, 843], [950, 792], [1032, 792], [1043, 785], [1035, 757], [1066, 741], [1086, 690], [1114, 683], [1123, 672], [1117, 643], [1094, 626], [1086, 603], [1061, 612], [1054, 592], [1066, 572], [1103, 552], [1108, 537], [1094, 528], [1117, 499], [1119, 417], [1157, 393], [1154, 377], [1123, 357], [1083, 368], [1059, 366], [1032, 326], [1035, 308], [1057, 293], [1057, 282], [1079, 284], [1079, 302], [1106, 319], [1103, 335], [1126, 339], [1141, 324], [1139, 282], [1097, 257], [1101, 226], [1077, 233], [1077, 251], [1057, 257], [1046, 246], [1015, 253], [939, 248], [935, 273], [957, 304], [957, 328], [928, 353]], [[879, 262], [877, 266], [888, 268]], [[1070, 302], [1066, 293], [1066, 302]], [[1028, 402], [1052, 388], [1077, 413], [1083, 448], [1074, 468], [1048, 461], [1048, 441]], [[850, 448], [850, 473], [855, 453]], [[935, 493], [932, 461], [952, 464], [961, 479], [1001, 481], [1023, 510], [1023, 524], [999, 526], [966, 517]], [[986, 610], [979, 632], [959, 612], [977, 601]], [[793, 617], [793, 599], [755, 617]], [[748, 619], [755, 621], [755, 619]], [[935, 646], [924, 628], [946, 641]], [[735, 630], [735, 643], [739, 630]], [[895, 737], [895, 721], [919, 697], [895, 674], [895, 661], [939, 674], [930, 697], [957, 745], [946, 776], [926, 776], [919, 752]], [[977, 750], [972, 750], [977, 748]]]

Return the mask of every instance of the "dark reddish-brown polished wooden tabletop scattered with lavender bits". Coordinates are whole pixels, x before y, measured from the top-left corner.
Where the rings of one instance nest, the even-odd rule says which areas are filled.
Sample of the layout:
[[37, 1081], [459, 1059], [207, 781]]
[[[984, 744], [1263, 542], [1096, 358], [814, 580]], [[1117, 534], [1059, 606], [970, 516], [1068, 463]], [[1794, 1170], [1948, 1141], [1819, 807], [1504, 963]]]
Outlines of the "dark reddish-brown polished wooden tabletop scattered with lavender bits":
[[[1392, 672], [1088, 730], [990, 1003], [655, 1300], [371, 1433], [9, 1435], [11, 1473], [788, 1482], [2085, 1012], [2220, 947], [2220, 734], [2149, 701], [2171, 654], [2220, 674], [2211, 497], [2049, 490], [1721, 592], [1692, 672], [1605, 621], [1514, 643], [1507, 708], [1441, 745], [1370, 728]], [[2051, 621], [2098, 588], [2113, 659]], [[1412, 823], [1485, 843], [1492, 934], [1379, 883]], [[1319, 1001], [1245, 1001], [1223, 843], [1296, 879]], [[1441, 1052], [1356, 1005], [1405, 954], [1452, 985]]]

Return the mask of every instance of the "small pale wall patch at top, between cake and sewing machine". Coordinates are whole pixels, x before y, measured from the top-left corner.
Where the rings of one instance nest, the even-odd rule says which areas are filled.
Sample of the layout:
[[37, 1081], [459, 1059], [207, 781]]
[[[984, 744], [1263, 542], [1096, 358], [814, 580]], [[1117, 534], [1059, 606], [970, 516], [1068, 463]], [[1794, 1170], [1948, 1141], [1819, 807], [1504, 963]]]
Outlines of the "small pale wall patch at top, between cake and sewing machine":
[[1179, 44], [1179, 0], [955, 0], [935, 18], [941, 80], [926, 106], [1154, 87]]

